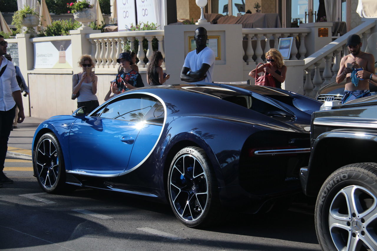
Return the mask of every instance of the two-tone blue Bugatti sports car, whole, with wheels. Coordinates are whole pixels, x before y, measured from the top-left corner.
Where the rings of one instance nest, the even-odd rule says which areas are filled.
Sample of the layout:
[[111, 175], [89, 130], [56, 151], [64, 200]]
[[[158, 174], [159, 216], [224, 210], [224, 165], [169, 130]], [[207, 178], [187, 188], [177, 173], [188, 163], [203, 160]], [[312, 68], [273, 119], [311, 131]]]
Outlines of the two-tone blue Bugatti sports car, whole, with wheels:
[[268, 211], [301, 191], [321, 104], [264, 86], [143, 87], [41, 123], [34, 175], [48, 193], [89, 187], [170, 203], [189, 227], [230, 208]]

